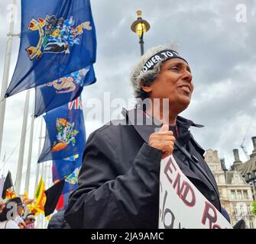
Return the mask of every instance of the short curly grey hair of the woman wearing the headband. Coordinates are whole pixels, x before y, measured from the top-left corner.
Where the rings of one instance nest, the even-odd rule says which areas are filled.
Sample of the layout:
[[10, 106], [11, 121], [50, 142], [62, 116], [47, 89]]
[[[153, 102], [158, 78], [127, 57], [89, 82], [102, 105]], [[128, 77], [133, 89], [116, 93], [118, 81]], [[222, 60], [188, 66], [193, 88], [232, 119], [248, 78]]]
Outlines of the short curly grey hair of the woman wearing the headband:
[[141, 100], [144, 100], [148, 97], [148, 93], [143, 91], [142, 85], [151, 85], [154, 82], [154, 80], [159, 75], [161, 66], [168, 58], [160, 60], [160, 62], [157, 63], [157, 65], [154, 66], [153, 69], [147, 70], [147, 72], [141, 73], [141, 69], [143, 68], [147, 60], [151, 58], [151, 56], [154, 56], [154, 54], [159, 53], [163, 50], [173, 50], [177, 52], [177, 44], [172, 43], [170, 45], [160, 45], [157, 47], [153, 47], [150, 50], [147, 50], [147, 53], [141, 56], [139, 63], [134, 66], [134, 69], [131, 72], [131, 85], [134, 89], [135, 98], [141, 98]]

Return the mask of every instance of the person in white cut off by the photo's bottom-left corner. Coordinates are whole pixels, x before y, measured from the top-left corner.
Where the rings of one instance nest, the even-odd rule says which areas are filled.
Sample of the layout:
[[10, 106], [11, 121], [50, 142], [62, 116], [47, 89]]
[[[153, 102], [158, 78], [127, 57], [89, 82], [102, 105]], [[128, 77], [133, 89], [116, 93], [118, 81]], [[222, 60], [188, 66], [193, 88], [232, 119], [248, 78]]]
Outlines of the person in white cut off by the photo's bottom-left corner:
[[20, 229], [18, 223], [15, 222], [17, 217], [17, 203], [12, 199], [5, 203], [5, 207], [0, 213], [0, 229]]

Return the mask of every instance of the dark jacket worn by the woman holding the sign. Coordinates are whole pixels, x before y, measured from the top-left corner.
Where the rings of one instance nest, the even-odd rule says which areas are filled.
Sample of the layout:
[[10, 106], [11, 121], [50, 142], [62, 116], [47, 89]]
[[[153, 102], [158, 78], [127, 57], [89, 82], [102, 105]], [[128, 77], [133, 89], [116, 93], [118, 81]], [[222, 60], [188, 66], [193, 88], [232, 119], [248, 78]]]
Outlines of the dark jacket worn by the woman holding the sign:
[[[157, 228], [161, 152], [147, 142], [160, 126], [138, 125], [141, 117], [134, 111], [123, 111], [124, 120], [112, 121], [89, 136], [79, 187], [70, 195], [65, 212], [72, 228]], [[143, 116], [144, 122], [148, 118]], [[129, 125], [122, 125], [125, 122]], [[215, 179], [203, 159], [204, 150], [188, 130], [190, 126], [199, 127], [177, 118], [180, 143], [199, 159], [208, 179], [176, 147], [173, 156], [196, 188], [220, 210]]]

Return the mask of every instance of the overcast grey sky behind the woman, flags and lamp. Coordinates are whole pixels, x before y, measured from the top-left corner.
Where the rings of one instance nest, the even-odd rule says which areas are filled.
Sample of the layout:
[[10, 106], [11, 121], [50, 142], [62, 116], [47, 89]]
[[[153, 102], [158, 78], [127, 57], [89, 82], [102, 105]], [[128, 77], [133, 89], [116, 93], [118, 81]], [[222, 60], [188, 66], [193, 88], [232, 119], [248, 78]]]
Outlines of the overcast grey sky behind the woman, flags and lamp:
[[[11, 2], [0, 2], [1, 80], [8, 33], [7, 8]], [[112, 99], [124, 98], [128, 101], [128, 98], [132, 98], [129, 75], [140, 58], [140, 47], [138, 37], [131, 32], [130, 26], [137, 18], [136, 11], [141, 10], [142, 17], [151, 24], [151, 30], [144, 36], [145, 50], [159, 44], [175, 42], [178, 43], [180, 53], [190, 63], [195, 89], [190, 107], [181, 115], [205, 125], [204, 128], [192, 129], [198, 143], [204, 149], [218, 150], [219, 157], [225, 158], [229, 168], [234, 161], [232, 149], [239, 148], [247, 132], [244, 145], [251, 154], [251, 136], [256, 136], [254, 1], [93, 0], [91, 4], [98, 42], [95, 65], [97, 82], [84, 88], [85, 117], [89, 111], [87, 102], [91, 98], [102, 99], [104, 92], [110, 92]], [[19, 11], [18, 8], [18, 15]], [[17, 21], [15, 33], [20, 31], [19, 28], [20, 21]], [[15, 37], [10, 79], [15, 68], [18, 47], [19, 40]], [[31, 93], [33, 95], [34, 91]], [[17, 169], [25, 94], [26, 92], [21, 92], [8, 98], [6, 106], [0, 169], [6, 155], [5, 159], [8, 161], [5, 175], [10, 169], [13, 178]], [[34, 125], [31, 169], [33, 191], [40, 121], [41, 118], [37, 118]], [[28, 127], [30, 124], [29, 118]], [[86, 120], [87, 136], [100, 126], [102, 121]], [[28, 136], [25, 144], [24, 178], [28, 161]], [[245, 161], [241, 148], [239, 152], [240, 159]]]

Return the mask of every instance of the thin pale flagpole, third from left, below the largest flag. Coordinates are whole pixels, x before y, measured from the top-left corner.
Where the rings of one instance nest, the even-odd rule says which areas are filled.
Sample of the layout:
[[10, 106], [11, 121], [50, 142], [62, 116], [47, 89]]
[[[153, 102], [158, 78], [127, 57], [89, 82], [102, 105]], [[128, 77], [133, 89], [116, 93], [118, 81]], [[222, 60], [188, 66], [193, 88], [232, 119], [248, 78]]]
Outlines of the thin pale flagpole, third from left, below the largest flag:
[[[34, 97], [35, 100], [35, 97]], [[29, 192], [29, 181], [31, 178], [31, 155], [32, 155], [32, 144], [33, 144], [33, 136], [34, 136], [34, 102], [32, 106], [32, 115], [31, 115], [31, 133], [30, 133], [30, 140], [28, 146], [28, 165], [27, 165], [27, 172], [26, 172], [26, 181], [25, 181], [25, 190]], [[29, 193], [28, 193], [29, 194]]]

